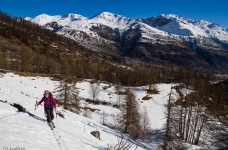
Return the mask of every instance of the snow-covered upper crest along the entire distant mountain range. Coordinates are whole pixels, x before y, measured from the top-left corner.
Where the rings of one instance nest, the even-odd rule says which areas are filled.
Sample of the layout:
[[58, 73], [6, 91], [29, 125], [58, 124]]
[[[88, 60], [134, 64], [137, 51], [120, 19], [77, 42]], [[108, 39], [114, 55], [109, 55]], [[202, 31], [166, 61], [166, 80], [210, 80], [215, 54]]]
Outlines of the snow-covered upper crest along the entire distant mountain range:
[[[148, 19], [155, 19], [155, 18], [165, 18], [170, 20], [170, 22], [166, 25], [154, 26], [144, 20]], [[180, 36], [214, 36], [221, 40], [228, 42], [228, 32], [225, 28], [219, 27], [215, 23], [210, 23], [204, 20], [192, 20], [192, 19], [185, 19], [183, 17], [179, 17], [175, 14], [161, 14], [157, 17], [150, 17], [146, 19], [130, 19], [122, 15], [113, 14], [110, 12], [103, 12], [93, 17], [84, 17], [79, 14], [69, 13], [63, 16], [55, 15], [49, 16], [47, 14], [41, 14], [36, 16], [35, 18], [25, 18], [26, 20], [30, 20], [34, 23], [45, 25], [50, 22], [57, 22], [61, 26], [70, 26], [73, 29], [82, 30], [83, 28], [89, 32], [89, 27], [91, 24], [100, 24], [100, 25], [107, 25], [113, 29], [119, 28], [122, 30], [126, 30], [130, 28], [134, 24], [140, 24], [142, 22], [147, 23], [148, 25], [157, 28], [158, 30], [168, 32], [174, 35]], [[83, 20], [83, 21], [82, 21]], [[83, 25], [84, 24], [84, 25]], [[81, 25], [79, 28], [78, 25]], [[85, 30], [83, 30], [85, 31]], [[213, 34], [214, 33], [214, 34]]]

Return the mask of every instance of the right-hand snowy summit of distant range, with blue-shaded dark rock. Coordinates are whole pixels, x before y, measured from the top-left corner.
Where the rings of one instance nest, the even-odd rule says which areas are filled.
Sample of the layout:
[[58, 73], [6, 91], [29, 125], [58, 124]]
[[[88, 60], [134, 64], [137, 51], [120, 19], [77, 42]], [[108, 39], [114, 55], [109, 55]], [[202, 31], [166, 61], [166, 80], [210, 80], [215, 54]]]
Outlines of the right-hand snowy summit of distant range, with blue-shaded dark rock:
[[175, 14], [161, 14], [141, 19], [148, 25], [180, 36], [212, 37], [228, 41], [228, 32], [216, 23], [204, 20], [186, 19]]

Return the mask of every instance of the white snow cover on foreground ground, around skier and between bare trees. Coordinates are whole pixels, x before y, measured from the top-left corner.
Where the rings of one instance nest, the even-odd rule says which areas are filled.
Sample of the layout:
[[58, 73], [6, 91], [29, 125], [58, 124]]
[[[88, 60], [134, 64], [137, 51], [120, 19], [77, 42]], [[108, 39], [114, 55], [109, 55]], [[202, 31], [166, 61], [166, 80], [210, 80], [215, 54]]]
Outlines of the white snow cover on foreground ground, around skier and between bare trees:
[[[33, 80], [36, 79], [36, 80]], [[82, 106], [86, 99], [91, 99], [89, 95], [89, 87], [91, 80], [83, 80], [77, 83], [79, 90], [79, 98]], [[55, 118], [54, 130], [47, 125], [44, 116], [43, 106], [37, 107], [35, 111], [35, 102], [42, 98], [43, 91], [49, 89], [53, 91], [56, 81], [44, 77], [20, 77], [13, 73], [4, 74], [0, 78], [0, 99], [7, 100], [8, 103], [0, 102], [0, 145], [3, 146], [24, 146], [26, 149], [104, 149], [107, 144], [117, 143], [115, 131], [101, 125], [101, 112], [107, 114], [107, 123], [114, 124], [113, 118], [120, 112], [119, 109], [113, 108], [112, 105], [117, 103], [117, 95], [115, 87], [111, 84], [101, 83], [101, 92], [99, 100], [108, 102], [109, 105], [92, 105], [89, 107], [98, 109], [92, 113], [92, 119], [85, 118], [81, 115], [74, 114], [60, 107], [57, 111], [62, 112], [65, 119], [58, 116]], [[26, 85], [26, 86], [25, 86]], [[109, 87], [103, 89], [102, 87]], [[130, 88], [136, 95], [136, 100], [140, 106], [140, 110], [147, 109], [151, 128], [160, 130], [165, 122], [165, 107], [168, 94], [170, 92], [170, 84], [157, 84], [159, 94], [148, 94], [146, 89], [148, 86], [141, 87], [123, 87]], [[36, 88], [34, 88], [36, 87]], [[175, 90], [174, 97], [178, 95]], [[148, 95], [150, 100], [142, 100]], [[13, 103], [19, 103], [26, 108], [25, 112], [17, 112], [12, 106]], [[56, 117], [56, 115], [55, 115]], [[85, 129], [85, 130], [84, 130]], [[91, 135], [91, 131], [99, 130], [101, 140]], [[48, 143], [48, 144], [47, 144]], [[153, 147], [136, 141], [138, 149], [154, 149]]]

